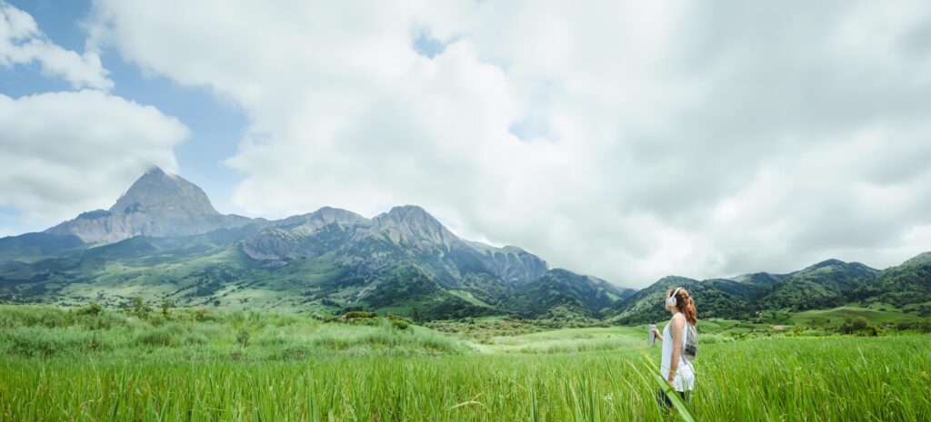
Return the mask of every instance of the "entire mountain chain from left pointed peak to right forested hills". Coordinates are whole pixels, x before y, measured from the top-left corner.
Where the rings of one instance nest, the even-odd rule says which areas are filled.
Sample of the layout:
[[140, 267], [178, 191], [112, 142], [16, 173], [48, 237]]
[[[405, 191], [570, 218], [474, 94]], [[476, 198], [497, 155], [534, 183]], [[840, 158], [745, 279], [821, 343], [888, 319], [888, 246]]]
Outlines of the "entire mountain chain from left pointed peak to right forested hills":
[[143, 297], [178, 306], [645, 323], [664, 317], [662, 298], [673, 285], [693, 293], [703, 317], [743, 319], [852, 301], [921, 304], [931, 300], [929, 281], [931, 254], [923, 254], [883, 271], [829, 259], [788, 274], [669, 276], [635, 291], [550, 269], [517, 246], [466, 241], [415, 205], [374, 218], [331, 207], [274, 221], [223, 215], [196, 185], [157, 167], [109, 210], [0, 239], [0, 299], [14, 303]]

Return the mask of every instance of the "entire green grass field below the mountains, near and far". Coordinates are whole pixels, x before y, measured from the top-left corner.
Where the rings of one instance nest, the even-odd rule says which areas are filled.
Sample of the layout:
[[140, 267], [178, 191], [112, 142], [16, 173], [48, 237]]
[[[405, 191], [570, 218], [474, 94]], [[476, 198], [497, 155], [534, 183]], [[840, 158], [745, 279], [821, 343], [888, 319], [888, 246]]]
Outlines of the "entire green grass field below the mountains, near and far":
[[[659, 348], [639, 327], [491, 338], [384, 318], [3, 307], [0, 421], [678, 418], [655, 405]], [[703, 342], [690, 409], [713, 421], [929, 420], [928, 344], [917, 334]]]

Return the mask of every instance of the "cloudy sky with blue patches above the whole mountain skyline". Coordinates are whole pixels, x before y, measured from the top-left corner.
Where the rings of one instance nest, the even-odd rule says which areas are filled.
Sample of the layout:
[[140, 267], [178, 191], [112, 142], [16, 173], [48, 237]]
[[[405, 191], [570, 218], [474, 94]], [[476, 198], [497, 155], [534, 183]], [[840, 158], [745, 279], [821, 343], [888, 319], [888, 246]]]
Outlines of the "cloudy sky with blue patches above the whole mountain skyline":
[[931, 250], [931, 4], [0, 0], [0, 236], [151, 165], [642, 287]]

